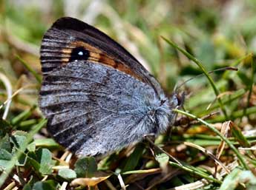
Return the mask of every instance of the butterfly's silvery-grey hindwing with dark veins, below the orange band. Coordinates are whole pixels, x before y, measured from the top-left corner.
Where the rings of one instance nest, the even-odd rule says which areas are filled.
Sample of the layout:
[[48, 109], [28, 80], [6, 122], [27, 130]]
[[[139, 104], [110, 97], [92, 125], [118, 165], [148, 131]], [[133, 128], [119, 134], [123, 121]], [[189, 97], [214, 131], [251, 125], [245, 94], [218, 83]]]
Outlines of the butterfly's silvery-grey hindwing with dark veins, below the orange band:
[[50, 72], [39, 101], [48, 131], [78, 155], [113, 152], [157, 132], [147, 113], [159, 104], [151, 86], [84, 61]]

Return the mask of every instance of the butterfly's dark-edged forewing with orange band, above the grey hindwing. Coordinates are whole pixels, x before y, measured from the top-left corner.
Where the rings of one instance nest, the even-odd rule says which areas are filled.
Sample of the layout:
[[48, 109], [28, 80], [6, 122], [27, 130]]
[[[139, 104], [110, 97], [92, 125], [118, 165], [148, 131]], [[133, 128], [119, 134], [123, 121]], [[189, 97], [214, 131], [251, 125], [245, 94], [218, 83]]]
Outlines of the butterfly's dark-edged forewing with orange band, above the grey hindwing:
[[160, 96], [163, 90], [155, 78], [116, 41], [76, 18], [59, 18], [45, 33], [41, 47], [42, 72], [67, 64], [76, 47], [90, 52], [90, 61], [119, 69], [152, 86]]

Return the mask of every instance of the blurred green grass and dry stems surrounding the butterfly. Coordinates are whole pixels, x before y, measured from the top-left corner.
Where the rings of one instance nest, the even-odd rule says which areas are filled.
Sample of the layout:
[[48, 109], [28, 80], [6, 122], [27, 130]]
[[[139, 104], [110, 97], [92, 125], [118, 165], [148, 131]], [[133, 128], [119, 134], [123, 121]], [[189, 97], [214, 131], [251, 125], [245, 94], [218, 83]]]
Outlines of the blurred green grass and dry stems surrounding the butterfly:
[[[0, 189], [256, 189], [255, 13], [254, 0], [0, 1]], [[77, 160], [37, 107], [42, 35], [61, 16], [116, 39], [169, 95], [198, 64], [238, 71], [182, 86], [185, 112], [156, 140]]]

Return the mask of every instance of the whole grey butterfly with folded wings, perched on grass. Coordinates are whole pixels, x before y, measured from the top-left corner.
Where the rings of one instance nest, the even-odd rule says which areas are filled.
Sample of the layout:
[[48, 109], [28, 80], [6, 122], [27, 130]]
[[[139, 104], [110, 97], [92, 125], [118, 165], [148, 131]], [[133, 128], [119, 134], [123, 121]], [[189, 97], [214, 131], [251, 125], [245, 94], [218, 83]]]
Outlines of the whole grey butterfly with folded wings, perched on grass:
[[40, 50], [47, 131], [78, 156], [106, 155], [159, 135], [180, 106], [124, 47], [76, 18], [59, 18]]

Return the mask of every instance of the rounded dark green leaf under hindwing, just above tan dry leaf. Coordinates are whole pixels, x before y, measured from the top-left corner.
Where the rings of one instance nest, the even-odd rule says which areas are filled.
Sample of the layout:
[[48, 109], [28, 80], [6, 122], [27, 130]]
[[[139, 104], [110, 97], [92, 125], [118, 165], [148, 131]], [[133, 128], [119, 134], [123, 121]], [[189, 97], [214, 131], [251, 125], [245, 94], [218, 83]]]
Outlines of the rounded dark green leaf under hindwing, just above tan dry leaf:
[[97, 164], [94, 157], [82, 157], [76, 161], [75, 172], [77, 177], [92, 177], [97, 171]]

